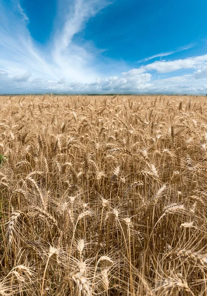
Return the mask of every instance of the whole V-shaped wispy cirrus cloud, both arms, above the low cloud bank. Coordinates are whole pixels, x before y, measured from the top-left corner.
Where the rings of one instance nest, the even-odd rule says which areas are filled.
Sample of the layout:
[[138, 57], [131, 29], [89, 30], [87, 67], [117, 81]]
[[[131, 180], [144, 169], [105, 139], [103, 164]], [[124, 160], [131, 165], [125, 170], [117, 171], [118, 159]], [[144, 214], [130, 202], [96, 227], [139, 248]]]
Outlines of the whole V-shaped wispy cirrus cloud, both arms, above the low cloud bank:
[[32, 73], [32, 77], [89, 82], [94, 70], [94, 52], [78, 46], [73, 37], [86, 22], [110, 3], [106, 0], [73, 0], [65, 7], [65, 24], [53, 32], [42, 50], [28, 30], [29, 19], [19, 0], [0, 1], [0, 68], [9, 75]]

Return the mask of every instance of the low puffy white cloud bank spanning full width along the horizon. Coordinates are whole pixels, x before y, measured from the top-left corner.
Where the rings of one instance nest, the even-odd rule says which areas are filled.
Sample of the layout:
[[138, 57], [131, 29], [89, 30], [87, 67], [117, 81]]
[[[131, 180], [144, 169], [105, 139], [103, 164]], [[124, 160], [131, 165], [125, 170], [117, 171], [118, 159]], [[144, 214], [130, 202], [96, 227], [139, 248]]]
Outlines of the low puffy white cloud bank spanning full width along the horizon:
[[165, 93], [165, 94], [206, 94], [207, 79], [196, 79], [194, 74], [173, 76], [158, 79], [152, 74], [144, 73], [134, 76], [123, 77], [121, 75], [106, 78], [97, 78], [90, 83], [70, 82], [65, 80], [49, 80], [35, 78], [14, 81], [10, 74], [0, 72], [0, 93], [5, 93], [8, 89], [10, 93]]

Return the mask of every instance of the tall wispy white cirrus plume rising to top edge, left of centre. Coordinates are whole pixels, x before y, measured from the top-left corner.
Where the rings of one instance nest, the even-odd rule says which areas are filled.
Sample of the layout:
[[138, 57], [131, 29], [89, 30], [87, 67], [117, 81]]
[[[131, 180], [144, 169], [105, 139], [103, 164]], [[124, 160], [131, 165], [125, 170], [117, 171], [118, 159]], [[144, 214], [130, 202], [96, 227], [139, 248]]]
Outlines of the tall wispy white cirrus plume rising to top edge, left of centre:
[[81, 81], [95, 79], [97, 73], [92, 67], [94, 54], [73, 42], [73, 37], [90, 18], [109, 4], [108, 0], [75, 0], [69, 5], [61, 34], [58, 32], [54, 36], [52, 51], [53, 61], [60, 67], [64, 77]]

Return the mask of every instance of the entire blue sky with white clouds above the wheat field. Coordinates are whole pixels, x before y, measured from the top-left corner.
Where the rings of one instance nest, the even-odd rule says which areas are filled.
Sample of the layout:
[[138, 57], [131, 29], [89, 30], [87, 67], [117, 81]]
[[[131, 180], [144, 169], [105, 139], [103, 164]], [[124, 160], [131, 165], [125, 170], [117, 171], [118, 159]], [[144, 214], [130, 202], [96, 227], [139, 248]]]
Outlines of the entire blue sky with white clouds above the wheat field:
[[0, 94], [207, 94], [207, 0], [0, 0]]

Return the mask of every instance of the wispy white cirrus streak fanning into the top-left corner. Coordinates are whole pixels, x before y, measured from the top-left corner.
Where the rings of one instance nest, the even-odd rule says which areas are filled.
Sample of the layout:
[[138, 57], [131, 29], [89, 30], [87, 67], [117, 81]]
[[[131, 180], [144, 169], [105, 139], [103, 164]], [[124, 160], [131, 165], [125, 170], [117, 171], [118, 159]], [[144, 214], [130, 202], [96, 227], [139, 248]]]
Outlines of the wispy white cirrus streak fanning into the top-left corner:
[[19, 5], [16, 0], [12, 5], [0, 2], [0, 67], [9, 75], [32, 72], [55, 78], [50, 63], [40, 53], [27, 29], [28, 18]]

